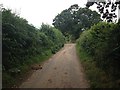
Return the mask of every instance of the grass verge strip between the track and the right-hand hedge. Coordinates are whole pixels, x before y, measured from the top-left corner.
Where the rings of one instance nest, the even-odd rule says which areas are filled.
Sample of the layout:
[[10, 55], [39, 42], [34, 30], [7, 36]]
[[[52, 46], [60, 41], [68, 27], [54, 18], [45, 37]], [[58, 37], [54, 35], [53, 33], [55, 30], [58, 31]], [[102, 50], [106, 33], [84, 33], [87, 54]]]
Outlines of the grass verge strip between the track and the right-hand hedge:
[[111, 80], [111, 77], [97, 67], [93, 58], [87, 55], [78, 44], [76, 44], [76, 51], [85, 70], [87, 79], [90, 82], [91, 88], [114, 87], [114, 82]]

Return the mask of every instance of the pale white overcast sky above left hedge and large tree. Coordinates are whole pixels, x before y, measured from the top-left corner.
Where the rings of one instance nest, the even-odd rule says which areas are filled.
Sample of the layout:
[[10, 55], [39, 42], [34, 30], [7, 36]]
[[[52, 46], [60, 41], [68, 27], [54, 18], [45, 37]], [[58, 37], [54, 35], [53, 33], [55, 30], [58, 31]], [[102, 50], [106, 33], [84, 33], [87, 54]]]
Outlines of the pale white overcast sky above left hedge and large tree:
[[42, 23], [52, 25], [53, 19], [61, 11], [73, 4], [85, 7], [86, 2], [87, 0], [0, 0], [3, 7], [12, 9], [37, 28]]

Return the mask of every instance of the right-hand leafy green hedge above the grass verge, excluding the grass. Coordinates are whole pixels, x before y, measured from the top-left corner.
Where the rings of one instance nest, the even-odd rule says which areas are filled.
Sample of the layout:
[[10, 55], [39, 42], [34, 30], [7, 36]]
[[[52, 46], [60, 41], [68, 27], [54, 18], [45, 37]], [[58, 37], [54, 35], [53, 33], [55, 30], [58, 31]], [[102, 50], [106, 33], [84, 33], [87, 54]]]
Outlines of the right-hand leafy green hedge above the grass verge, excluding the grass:
[[101, 22], [84, 31], [77, 40], [79, 52], [85, 52], [119, 87], [120, 78], [120, 24]]

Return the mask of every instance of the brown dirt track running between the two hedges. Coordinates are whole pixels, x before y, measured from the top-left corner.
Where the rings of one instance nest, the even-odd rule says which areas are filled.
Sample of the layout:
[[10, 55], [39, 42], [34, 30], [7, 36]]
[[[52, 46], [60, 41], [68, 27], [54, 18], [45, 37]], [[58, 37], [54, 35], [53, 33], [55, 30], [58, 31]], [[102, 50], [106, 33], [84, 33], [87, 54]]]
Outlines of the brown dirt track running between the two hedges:
[[36, 70], [20, 88], [89, 88], [78, 60], [75, 44], [63, 49]]

